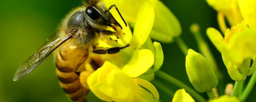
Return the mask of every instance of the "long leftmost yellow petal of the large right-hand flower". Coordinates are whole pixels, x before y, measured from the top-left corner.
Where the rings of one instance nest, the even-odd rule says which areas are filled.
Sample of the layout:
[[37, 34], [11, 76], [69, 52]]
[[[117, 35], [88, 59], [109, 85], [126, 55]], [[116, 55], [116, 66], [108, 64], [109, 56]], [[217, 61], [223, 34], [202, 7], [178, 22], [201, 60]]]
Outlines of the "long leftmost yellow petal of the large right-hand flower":
[[208, 38], [212, 41], [213, 45], [223, 56], [227, 57], [229, 61], [232, 61], [237, 65], [240, 65], [243, 62], [243, 59], [240, 56], [236, 55], [228, 49], [226, 41], [223, 39], [218, 30], [214, 28], [207, 28], [206, 33]]

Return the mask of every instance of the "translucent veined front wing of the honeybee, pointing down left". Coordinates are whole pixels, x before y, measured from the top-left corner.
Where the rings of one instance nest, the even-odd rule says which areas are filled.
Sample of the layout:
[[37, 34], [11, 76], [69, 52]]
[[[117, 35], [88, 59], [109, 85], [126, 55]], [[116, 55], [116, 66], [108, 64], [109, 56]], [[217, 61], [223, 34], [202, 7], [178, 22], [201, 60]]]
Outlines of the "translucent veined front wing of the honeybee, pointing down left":
[[27, 60], [21, 64], [20, 68], [15, 73], [13, 81], [17, 81], [30, 73], [33, 69], [36, 68], [36, 66], [43, 62], [48, 55], [50, 55], [56, 48], [58, 48], [61, 44], [63, 44], [71, 37], [72, 34], [68, 34], [65, 37], [58, 38], [39, 49], [35, 54], [28, 57]]

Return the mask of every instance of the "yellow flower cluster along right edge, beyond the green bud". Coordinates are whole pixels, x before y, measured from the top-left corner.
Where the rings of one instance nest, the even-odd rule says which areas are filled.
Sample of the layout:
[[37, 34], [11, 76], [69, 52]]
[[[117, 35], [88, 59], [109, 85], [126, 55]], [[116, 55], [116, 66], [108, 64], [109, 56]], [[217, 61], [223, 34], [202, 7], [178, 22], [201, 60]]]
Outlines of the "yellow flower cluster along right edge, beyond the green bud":
[[[235, 0], [235, 2], [237, 1]], [[237, 3], [235, 4], [237, 5]], [[233, 24], [234, 26], [231, 29], [227, 29], [224, 38], [214, 28], [208, 28], [206, 33], [213, 45], [220, 51], [230, 77], [235, 81], [243, 81], [246, 76], [251, 75], [256, 69], [254, 62], [250, 67], [251, 59], [254, 60], [256, 54], [256, 42], [254, 40], [256, 39], [256, 24], [254, 23], [256, 21], [254, 15], [256, 8], [253, 6], [256, 2], [253, 0], [238, 0], [238, 4], [241, 13], [237, 13], [243, 16], [243, 22]]]

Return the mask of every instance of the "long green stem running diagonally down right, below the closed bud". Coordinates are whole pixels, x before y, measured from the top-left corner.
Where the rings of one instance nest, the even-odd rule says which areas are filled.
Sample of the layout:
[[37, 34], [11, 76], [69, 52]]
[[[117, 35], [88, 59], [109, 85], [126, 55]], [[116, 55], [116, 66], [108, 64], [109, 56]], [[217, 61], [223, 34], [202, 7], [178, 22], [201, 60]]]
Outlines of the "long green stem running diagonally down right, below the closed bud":
[[206, 100], [202, 96], [200, 96], [195, 90], [191, 89], [189, 86], [180, 82], [179, 80], [175, 79], [174, 77], [172, 77], [160, 70], [156, 71], [155, 74], [157, 77], [161, 77], [161, 78], [165, 79], [166, 81], [177, 85], [180, 88], [184, 88], [188, 93], [190, 93], [191, 96], [193, 96], [199, 102], [206, 102]]

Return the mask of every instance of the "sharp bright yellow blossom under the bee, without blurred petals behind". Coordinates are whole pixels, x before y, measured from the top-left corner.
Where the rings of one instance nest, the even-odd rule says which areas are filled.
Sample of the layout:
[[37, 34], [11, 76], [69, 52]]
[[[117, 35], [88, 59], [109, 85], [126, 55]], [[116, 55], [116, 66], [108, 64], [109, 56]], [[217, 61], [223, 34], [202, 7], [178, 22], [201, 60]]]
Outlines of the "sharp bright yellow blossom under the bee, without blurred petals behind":
[[[124, 27], [125, 35], [117, 40], [118, 43], [100, 42], [99, 46], [101, 47], [124, 46], [127, 42], [131, 47], [122, 49], [114, 55], [101, 56], [106, 62], [87, 78], [88, 88], [98, 98], [117, 102], [158, 101], [159, 95], [156, 88], [147, 80], [138, 78], [149, 70], [146, 77], [142, 77], [152, 80], [154, 71], [158, 70], [163, 63], [163, 51], [160, 43], [152, 43], [148, 37], [154, 18], [153, 6], [145, 2], [140, 7], [133, 34], [129, 27]], [[81, 82], [84, 81], [81, 80]]]

